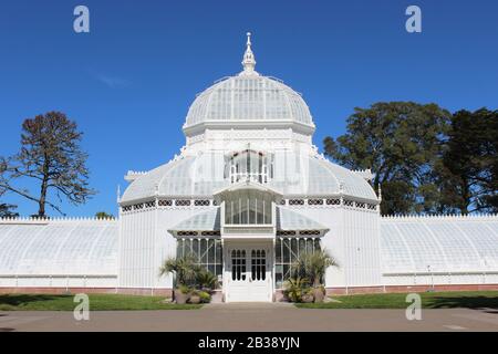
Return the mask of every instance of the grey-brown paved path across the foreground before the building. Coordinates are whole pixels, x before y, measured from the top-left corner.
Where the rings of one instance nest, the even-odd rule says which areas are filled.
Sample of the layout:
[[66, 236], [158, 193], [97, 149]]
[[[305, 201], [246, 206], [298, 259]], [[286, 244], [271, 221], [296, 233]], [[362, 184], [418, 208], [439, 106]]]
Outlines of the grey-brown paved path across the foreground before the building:
[[200, 310], [0, 312], [2, 331], [498, 331], [497, 310], [304, 310], [290, 304], [210, 304]]

